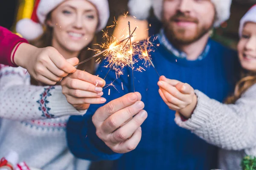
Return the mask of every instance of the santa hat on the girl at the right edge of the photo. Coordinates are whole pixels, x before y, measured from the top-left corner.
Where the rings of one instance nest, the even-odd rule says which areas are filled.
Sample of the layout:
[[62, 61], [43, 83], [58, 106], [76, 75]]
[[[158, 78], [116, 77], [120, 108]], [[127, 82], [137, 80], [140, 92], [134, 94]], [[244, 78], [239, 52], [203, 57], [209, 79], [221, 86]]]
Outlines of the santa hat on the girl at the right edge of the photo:
[[247, 12], [246, 14], [244, 14], [244, 16], [241, 18], [240, 20], [240, 25], [239, 25], [239, 36], [241, 37], [242, 35], [242, 31], [244, 28], [244, 24], [247, 22], [253, 22], [256, 23], [256, 4], [254, 6], [252, 6]]

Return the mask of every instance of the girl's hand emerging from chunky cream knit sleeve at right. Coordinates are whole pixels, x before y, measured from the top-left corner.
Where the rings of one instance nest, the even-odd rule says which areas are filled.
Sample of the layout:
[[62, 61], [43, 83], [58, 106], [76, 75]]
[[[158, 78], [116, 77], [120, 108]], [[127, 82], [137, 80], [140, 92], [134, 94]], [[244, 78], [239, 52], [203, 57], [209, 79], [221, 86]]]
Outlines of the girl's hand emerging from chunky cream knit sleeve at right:
[[179, 111], [186, 118], [191, 117], [197, 96], [189, 84], [161, 76], [157, 85], [160, 96], [170, 109]]

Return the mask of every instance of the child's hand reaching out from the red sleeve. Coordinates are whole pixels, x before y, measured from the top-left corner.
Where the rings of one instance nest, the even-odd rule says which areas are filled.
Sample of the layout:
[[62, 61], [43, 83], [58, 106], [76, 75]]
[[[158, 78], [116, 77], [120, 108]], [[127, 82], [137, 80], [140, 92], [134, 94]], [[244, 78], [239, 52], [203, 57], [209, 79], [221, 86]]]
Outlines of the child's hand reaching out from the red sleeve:
[[53, 47], [36, 48], [26, 43], [20, 44], [14, 60], [17, 65], [26, 68], [33, 78], [48, 85], [55, 85], [75, 72], [73, 65], [79, 62], [77, 58], [66, 60]]

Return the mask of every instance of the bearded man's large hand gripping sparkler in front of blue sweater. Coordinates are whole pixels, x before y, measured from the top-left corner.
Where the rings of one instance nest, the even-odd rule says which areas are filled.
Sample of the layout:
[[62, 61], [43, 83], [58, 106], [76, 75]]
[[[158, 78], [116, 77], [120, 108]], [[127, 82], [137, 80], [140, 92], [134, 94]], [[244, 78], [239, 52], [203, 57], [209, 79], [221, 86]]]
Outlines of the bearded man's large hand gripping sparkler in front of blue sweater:
[[93, 115], [97, 136], [116, 153], [134, 150], [148, 114], [138, 92], [126, 94], [99, 108]]

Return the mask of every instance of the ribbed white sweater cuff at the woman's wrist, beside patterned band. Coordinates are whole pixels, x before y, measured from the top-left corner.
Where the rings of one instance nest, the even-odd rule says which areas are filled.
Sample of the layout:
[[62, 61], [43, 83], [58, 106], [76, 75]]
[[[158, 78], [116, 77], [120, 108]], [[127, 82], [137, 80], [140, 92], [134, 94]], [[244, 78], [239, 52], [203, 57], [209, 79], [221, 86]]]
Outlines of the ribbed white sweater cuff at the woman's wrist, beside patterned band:
[[60, 85], [53, 86], [51, 89], [51, 96], [49, 97], [49, 112], [54, 117], [66, 116], [66, 115], [84, 115], [87, 110], [78, 111], [70, 103], [67, 102], [66, 96], [62, 94], [62, 88]]

